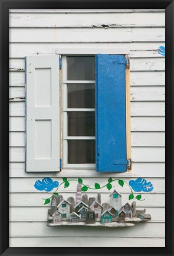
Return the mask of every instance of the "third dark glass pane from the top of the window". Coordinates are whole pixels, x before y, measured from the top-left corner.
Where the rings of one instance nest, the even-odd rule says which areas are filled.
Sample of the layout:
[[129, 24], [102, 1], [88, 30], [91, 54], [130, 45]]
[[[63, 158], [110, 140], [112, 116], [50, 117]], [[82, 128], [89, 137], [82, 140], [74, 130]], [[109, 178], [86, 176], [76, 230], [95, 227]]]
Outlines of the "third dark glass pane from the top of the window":
[[68, 136], [95, 136], [95, 112], [67, 112]]

